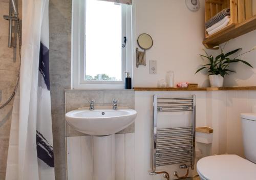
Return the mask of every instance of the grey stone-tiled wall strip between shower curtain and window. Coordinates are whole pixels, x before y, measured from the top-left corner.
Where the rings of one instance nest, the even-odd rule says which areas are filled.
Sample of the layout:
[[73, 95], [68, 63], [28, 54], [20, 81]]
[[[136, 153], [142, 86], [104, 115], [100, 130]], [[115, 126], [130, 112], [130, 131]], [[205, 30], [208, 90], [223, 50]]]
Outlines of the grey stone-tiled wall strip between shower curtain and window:
[[66, 179], [65, 92], [71, 79], [71, 0], [49, 2], [49, 58], [55, 179]]

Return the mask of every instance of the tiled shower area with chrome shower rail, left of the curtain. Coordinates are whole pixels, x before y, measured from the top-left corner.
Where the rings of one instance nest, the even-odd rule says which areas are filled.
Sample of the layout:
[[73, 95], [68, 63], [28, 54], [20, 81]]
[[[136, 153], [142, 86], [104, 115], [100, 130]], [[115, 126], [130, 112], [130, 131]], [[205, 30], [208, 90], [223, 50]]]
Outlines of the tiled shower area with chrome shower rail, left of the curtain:
[[0, 179], [5, 179], [6, 174], [12, 100], [19, 81], [21, 20], [18, 16], [21, 5], [21, 0], [0, 1]]

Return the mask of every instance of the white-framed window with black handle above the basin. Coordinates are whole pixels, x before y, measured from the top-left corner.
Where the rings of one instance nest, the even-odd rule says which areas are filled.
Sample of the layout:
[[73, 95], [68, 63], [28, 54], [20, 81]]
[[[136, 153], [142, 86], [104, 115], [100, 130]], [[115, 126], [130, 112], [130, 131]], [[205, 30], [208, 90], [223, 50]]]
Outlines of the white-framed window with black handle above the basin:
[[73, 1], [73, 88], [124, 87], [125, 72], [132, 69], [131, 10], [106, 1]]

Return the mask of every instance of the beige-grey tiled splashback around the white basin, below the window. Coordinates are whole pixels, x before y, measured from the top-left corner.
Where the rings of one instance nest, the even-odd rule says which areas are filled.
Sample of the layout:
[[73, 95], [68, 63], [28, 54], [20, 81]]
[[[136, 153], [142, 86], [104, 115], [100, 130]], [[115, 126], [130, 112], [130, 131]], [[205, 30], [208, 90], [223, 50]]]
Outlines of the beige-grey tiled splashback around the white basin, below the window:
[[[129, 107], [134, 109], [133, 90], [67, 90], [66, 91], [66, 112], [77, 109], [78, 107], [89, 107], [89, 100], [95, 100], [95, 106], [112, 106], [112, 101], [117, 100], [119, 107]], [[75, 131], [68, 124], [66, 126], [67, 137], [84, 136], [83, 133]], [[118, 133], [134, 132], [134, 124]]]

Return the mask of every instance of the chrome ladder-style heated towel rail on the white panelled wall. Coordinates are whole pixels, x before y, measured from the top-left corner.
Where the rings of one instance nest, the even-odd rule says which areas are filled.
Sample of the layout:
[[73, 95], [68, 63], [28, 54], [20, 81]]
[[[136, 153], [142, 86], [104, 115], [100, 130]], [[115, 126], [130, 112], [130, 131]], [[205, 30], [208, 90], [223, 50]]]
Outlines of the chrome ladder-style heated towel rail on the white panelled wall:
[[[153, 102], [153, 152], [152, 173], [156, 167], [195, 163], [196, 95], [190, 98], [158, 98]], [[157, 114], [162, 112], [191, 111], [191, 125], [188, 127], [157, 129]]]

